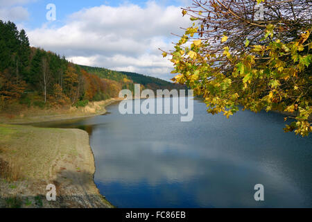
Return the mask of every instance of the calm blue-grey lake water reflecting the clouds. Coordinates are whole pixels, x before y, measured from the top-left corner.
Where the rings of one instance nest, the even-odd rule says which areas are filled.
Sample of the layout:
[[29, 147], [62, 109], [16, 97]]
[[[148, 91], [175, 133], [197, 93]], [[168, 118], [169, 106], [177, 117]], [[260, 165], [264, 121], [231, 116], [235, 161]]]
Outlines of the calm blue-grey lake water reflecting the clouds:
[[[90, 135], [94, 180], [117, 207], [312, 207], [312, 137], [284, 133], [277, 113], [226, 119], [194, 101], [194, 118], [106, 115], [44, 126]], [[262, 202], [254, 185], [264, 186]]]

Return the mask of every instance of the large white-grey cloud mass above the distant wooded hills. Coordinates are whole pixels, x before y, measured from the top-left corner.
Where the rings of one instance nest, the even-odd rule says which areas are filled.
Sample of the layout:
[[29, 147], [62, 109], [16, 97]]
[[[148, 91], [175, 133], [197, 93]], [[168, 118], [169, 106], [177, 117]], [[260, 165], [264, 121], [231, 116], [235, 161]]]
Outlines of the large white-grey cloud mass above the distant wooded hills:
[[[55, 51], [73, 62], [167, 78], [171, 62], [162, 49], [173, 49], [180, 27], [189, 26], [180, 7], [123, 4], [98, 6], [73, 13], [62, 27], [28, 31], [33, 46]], [[164, 75], [164, 76], [162, 76]]]

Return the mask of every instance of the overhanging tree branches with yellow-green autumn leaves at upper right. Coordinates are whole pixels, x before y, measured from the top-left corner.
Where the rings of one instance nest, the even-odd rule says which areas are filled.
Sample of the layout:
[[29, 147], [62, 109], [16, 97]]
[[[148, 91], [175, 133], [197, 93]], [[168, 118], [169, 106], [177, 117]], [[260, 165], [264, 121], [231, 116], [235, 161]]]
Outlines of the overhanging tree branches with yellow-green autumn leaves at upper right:
[[[261, 4], [261, 5], [260, 5]], [[262, 17], [259, 17], [263, 13]], [[202, 96], [208, 112], [297, 113], [285, 131], [312, 131], [311, 1], [193, 1], [172, 56], [173, 80]]]

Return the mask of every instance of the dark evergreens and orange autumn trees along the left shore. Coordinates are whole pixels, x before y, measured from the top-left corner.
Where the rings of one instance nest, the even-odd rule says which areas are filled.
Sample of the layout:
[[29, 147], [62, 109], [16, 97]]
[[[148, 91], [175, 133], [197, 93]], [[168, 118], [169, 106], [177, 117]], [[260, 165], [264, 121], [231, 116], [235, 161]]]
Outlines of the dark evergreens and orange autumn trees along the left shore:
[[[64, 56], [29, 45], [24, 30], [0, 20], [0, 110], [17, 105], [79, 105], [118, 96], [132, 80], [89, 74]], [[107, 77], [107, 78], [103, 78]]]

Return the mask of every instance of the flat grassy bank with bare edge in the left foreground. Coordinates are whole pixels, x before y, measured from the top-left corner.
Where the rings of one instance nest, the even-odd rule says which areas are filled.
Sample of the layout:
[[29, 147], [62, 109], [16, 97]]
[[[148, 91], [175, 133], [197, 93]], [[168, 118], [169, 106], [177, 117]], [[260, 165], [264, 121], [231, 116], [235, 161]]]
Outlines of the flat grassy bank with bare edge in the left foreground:
[[112, 207], [94, 184], [85, 131], [2, 124], [0, 137], [0, 207]]

